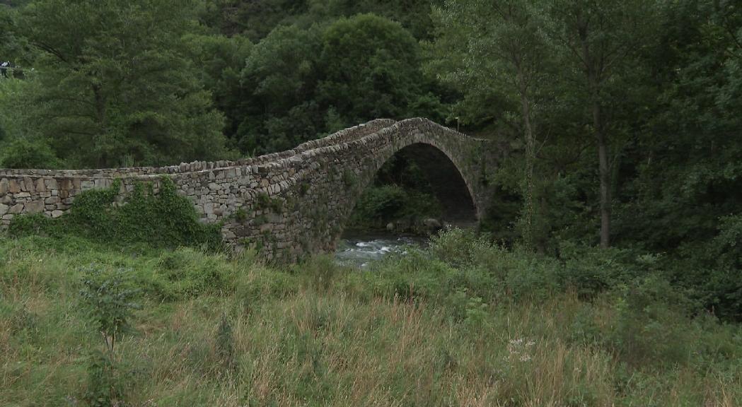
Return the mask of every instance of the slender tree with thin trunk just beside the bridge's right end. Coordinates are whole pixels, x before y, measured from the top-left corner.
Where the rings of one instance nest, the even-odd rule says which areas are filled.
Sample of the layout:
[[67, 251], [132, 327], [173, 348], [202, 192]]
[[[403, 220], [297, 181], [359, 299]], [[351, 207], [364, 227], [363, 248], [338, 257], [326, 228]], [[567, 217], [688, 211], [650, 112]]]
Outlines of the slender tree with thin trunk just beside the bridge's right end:
[[[541, 16], [532, 3], [525, 0], [446, 1], [444, 7], [437, 8], [434, 13], [438, 24], [438, 60], [430, 64], [432, 69], [439, 71], [440, 79], [459, 85], [464, 93], [481, 91], [482, 87], [473, 84], [484, 79], [506, 97], [515, 94], [519, 99], [517, 108], [525, 141], [522, 237], [528, 247], [534, 244], [536, 208], [533, 105], [537, 103], [549, 58]], [[452, 49], [463, 50], [463, 56], [450, 52]], [[463, 66], [452, 66], [447, 61], [461, 57]]]

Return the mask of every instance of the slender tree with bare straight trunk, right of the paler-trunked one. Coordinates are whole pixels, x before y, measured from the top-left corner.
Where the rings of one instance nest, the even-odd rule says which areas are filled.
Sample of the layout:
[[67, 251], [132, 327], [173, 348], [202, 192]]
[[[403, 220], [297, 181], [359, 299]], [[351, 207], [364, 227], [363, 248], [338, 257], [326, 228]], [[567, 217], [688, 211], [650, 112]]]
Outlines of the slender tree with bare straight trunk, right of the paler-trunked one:
[[643, 0], [554, 0], [548, 7], [549, 33], [575, 84], [588, 94], [591, 130], [600, 173], [600, 245], [611, 244], [610, 107], [622, 100], [626, 83], [617, 79], [638, 69], [637, 52], [653, 38], [654, 3]]

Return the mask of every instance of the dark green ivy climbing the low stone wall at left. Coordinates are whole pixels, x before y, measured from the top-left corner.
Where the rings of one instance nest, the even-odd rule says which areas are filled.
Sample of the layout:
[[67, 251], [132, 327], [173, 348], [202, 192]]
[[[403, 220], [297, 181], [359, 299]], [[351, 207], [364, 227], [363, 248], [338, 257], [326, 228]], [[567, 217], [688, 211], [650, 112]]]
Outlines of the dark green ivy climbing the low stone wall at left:
[[160, 191], [139, 183], [121, 205], [116, 180], [110, 188], [80, 193], [64, 216], [16, 216], [10, 224], [12, 236], [47, 234], [63, 239], [82, 236], [116, 244], [145, 243], [159, 248], [181, 245], [221, 247], [220, 225], [204, 225], [191, 202], [177, 194], [174, 182], [163, 177]]

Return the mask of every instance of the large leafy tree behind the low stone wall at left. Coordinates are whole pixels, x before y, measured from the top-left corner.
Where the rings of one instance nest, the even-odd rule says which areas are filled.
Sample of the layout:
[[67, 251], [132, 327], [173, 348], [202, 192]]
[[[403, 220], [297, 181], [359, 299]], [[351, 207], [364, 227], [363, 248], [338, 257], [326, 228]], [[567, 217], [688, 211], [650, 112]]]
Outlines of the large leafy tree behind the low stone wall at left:
[[75, 167], [224, 158], [223, 117], [187, 58], [199, 1], [36, 0], [18, 27], [42, 52], [36, 120]]

